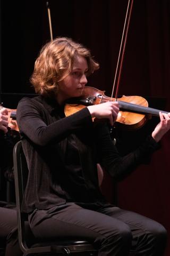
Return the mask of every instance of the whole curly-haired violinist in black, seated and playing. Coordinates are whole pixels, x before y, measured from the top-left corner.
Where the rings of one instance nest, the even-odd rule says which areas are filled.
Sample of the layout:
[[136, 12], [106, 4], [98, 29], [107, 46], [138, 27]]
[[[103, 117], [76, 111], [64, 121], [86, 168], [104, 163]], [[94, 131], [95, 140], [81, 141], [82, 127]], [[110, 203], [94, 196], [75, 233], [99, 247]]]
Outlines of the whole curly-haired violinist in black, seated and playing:
[[[65, 117], [65, 102], [81, 97], [87, 75], [98, 69], [89, 50], [70, 38], [56, 38], [41, 50], [31, 82], [38, 97], [23, 98], [17, 109], [29, 167], [23, 211], [38, 238], [84, 238], [99, 255], [162, 255], [165, 228], [140, 214], [106, 202], [98, 186], [97, 163], [121, 179], [157, 148], [170, 128], [170, 114], [146, 141], [124, 157], [109, 135], [117, 102], [87, 106]], [[92, 118], [108, 120], [93, 122]], [[30, 189], [31, 188], [31, 189]]]

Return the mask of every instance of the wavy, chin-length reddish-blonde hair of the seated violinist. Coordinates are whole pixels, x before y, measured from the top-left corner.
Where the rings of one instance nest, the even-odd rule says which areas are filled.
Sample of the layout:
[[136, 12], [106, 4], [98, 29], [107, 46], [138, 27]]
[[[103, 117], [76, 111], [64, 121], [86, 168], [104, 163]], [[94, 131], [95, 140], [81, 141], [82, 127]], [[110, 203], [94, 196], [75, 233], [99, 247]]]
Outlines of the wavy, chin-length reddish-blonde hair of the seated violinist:
[[86, 58], [88, 75], [99, 68], [91, 53], [82, 44], [75, 43], [71, 38], [58, 37], [44, 45], [35, 62], [30, 82], [36, 93], [42, 95], [56, 94], [58, 82], [69, 75], [77, 55]]

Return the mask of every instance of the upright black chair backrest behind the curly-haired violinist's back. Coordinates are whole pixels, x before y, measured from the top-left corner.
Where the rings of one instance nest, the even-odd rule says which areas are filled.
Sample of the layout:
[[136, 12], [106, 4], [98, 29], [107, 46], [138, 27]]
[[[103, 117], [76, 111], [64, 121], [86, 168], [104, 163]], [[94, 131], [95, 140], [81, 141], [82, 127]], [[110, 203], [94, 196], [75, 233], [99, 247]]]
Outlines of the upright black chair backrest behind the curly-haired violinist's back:
[[24, 190], [27, 185], [27, 178], [28, 178], [28, 166], [27, 161], [25, 159], [23, 149], [22, 149], [22, 142], [19, 141], [15, 144], [13, 149], [13, 162], [14, 162], [14, 179], [15, 179], [15, 195], [16, 195], [16, 210], [17, 210], [17, 218], [18, 218], [18, 236], [19, 236], [19, 243], [20, 247], [23, 251], [27, 250], [27, 241], [24, 237], [25, 231], [29, 233], [29, 241], [30, 244], [30, 237], [33, 237], [31, 233], [31, 229], [25, 230], [28, 228], [28, 225], [25, 226], [25, 221], [28, 220], [28, 215], [22, 212], [22, 199], [24, 195]]

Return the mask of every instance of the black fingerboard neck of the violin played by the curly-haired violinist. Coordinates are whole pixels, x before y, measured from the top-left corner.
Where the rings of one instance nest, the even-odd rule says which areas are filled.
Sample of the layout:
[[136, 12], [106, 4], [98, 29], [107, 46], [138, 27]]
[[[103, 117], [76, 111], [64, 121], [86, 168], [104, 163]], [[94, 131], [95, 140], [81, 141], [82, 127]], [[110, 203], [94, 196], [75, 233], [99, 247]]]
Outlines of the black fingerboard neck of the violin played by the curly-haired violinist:
[[117, 102], [120, 107], [120, 110], [122, 111], [130, 111], [138, 114], [149, 114], [153, 116], [159, 116], [159, 111], [161, 111], [162, 113], [168, 114], [168, 112], [166, 111], [162, 111], [155, 108], [143, 107], [140, 105], [136, 105], [136, 104], [125, 102], [125, 101], [119, 101], [119, 100]]

